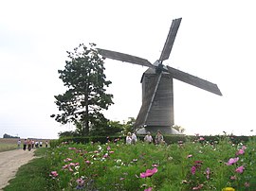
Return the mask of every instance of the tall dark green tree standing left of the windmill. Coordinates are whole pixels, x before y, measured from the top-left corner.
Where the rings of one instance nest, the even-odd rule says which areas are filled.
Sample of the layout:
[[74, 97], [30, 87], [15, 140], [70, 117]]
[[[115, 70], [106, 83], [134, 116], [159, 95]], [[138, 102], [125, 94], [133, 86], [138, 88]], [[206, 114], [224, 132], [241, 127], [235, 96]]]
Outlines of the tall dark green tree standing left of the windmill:
[[106, 124], [108, 120], [101, 112], [113, 104], [113, 95], [105, 93], [111, 81], [106, 80], [103, 59], [95, 46], [90, 43], [88, 48], [82, 43], [74, 52], [67, 51], [64, 70], [58, 70], [67, 90], [54, 96], [60, 113], [51, 115], [62, 124], [82, 124], [82, 135], [88, 135], [90, 127]]

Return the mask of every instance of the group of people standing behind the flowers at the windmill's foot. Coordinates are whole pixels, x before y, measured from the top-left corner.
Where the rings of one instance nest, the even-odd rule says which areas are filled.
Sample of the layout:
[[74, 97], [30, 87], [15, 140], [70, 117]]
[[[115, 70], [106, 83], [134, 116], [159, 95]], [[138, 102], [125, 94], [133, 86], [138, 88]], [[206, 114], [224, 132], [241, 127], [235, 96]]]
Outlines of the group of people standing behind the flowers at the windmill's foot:
[[[144, 137], [144, 141], [146, 143], [152, 144], [154, 142], [153, 137], [151, 135], [151, 132], [148, 131], [146, 136]], [[131, 145], [131, 144], [136, 144], [137, 143], [137, 135], [136, 132], [128, 132], [126, 136], [126, 144]], [[155, 145], [162, 145], [164, 144], [164, 139], [163, 135], [160, 130], [157, 131], [155, 135]]]

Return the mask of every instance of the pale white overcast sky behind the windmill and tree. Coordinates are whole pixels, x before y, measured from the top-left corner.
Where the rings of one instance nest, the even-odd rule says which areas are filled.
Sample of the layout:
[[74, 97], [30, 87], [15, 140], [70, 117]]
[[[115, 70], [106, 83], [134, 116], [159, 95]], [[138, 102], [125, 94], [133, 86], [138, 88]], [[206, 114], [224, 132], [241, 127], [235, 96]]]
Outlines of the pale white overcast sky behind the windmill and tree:
[[[58, 70], [79, 43], [155, 62], [172, 20], [182, 17], [164, 64], [216, 83], [216, 96], [174, 80], [174, 121], [188, 134], [255, 134], [254, 1], [94, 0], [0, 2], [0, 136], [57, 138]], [[105, 60], [112, 120], [137, 117], [146, 67]]]

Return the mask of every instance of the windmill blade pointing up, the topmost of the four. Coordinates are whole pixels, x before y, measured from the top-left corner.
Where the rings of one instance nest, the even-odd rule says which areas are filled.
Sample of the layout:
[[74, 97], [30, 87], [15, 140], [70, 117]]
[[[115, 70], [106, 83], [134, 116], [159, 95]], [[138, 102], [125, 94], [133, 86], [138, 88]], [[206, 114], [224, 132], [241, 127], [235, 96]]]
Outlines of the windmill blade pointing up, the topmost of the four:
[[173, 20], [166, 42], [164, 43], [164, 47], [163, 47], [159, 61], [165, 61], [169, 59], [181, 19], [182, 18]]

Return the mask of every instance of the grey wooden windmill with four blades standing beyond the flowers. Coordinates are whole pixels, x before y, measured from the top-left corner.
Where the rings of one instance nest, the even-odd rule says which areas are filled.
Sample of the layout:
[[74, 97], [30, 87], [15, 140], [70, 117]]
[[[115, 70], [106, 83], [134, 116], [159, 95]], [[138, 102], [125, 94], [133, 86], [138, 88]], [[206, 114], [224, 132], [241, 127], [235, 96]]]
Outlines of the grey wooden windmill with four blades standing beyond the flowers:
[[197, 78], [188, 73], [163, 65], [172, 51], [175, 36], [182, 18], [174, 19], [159, 60], [150, 61], [116, 51], [98, 48], [102, 57], [135, 63], [149, 67], [142, 75], [142, 105], [137, 114], [134, 128], [138, 133], [150, 130], [161, 130], [164, 133], [175, 133], [174, 126], [174, 87], [173, 79], [191, 84], [212, 94], [222, 96], [218, 86], [210, 81]]

